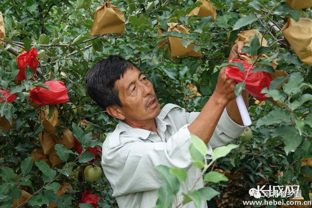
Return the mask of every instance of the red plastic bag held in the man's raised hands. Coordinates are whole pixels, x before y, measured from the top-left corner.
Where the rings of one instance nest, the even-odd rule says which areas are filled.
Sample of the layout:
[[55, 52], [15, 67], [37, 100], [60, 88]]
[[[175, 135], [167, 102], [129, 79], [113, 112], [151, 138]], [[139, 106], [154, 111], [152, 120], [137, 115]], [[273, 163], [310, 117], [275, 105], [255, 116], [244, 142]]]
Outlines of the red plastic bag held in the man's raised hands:
[[[233, 59], [232, 62], [240, 62], [245, 67], [245, 73], [241, 72], [236, 66], [227, 66], [225, 74], [228, 77], [236, 80], [236, 82], [243, 82], [245, 80], [247, 70], [251, 67], [246, 61]], [[252, 72], [252, 69], [255, 66], [252, 66], [249, 70], [248, 77], [245, 80], [246, 83], [246, 92], [248, 92], [252, 97], [256, 98], [259, 101], [268, 99], [265, 94], [261, 93], [261, 90], [265, 87], [269, 89], [272, 78], [270, 73], [264, 71]]]

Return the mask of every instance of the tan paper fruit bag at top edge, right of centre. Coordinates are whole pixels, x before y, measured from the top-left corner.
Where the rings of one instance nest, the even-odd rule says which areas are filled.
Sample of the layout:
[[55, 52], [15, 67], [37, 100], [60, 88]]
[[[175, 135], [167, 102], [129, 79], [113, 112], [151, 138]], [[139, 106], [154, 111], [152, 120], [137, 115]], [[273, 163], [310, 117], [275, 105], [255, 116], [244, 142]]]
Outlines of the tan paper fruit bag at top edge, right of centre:
[[202, 2], [202, 5], [194, 8], [188, 14], [188, 17], [193, 17], [194, 15], [197, 15], [199, 17], [212, 16], [212, 22], [216, 22], [217, 17], [216, 7], [212, 6], [209, 0], [197, 0], [196, 2]]

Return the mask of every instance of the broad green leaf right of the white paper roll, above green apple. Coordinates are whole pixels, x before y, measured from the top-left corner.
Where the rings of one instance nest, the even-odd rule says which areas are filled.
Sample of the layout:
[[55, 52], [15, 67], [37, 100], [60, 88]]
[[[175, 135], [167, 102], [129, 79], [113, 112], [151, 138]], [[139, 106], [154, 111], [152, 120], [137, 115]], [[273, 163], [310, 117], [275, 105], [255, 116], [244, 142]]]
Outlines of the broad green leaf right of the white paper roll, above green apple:
[[263, 125], [280, 124], [280, 123], [290, 124], [290, 116], [287, 115], [285, 109], [272, 110], [269, 114], [260, 118], [257, 121], [256, 128], [259, 128], [260, 126]]

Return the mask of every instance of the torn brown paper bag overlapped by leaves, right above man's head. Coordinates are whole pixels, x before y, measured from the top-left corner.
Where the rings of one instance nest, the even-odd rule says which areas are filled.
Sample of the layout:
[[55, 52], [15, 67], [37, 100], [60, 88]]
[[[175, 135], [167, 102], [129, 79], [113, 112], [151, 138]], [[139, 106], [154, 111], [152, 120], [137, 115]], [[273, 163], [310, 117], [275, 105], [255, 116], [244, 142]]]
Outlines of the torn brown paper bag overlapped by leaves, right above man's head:
[[[178, 25], [178, 23], [167, 23], [168, 24], [168, 31], [169, 32], [173, 32], [173, 31], [177, 31], [179, 33], [186, 33], [189, 34], [189, 30], [186, 27], [183, 27], [182, 25]], [[158, 29], [158, 34], [164, 33], [165, 31], [163, 29]], [[199, 51], [194, 51], [193, 50], [193, 44], [189, 44], [188, 47], [184, 47], [182, 45], [182, 38], [178, 38], [178, 37], [168, 37], [169, 39], [169, 51], [171, 52], [171, 56], [172, 58], [176, 57], [176, 56], [202, 56], [202, 53]], [[158, 47], [161, 46], [163, 44], [163, 41], [158, 43]]]

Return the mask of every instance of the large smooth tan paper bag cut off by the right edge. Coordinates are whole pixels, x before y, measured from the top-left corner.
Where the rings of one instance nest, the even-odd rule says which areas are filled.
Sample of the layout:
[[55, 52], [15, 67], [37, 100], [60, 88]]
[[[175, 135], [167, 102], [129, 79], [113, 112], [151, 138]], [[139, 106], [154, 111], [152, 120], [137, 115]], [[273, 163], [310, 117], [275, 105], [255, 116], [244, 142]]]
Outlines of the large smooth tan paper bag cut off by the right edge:
[[281, 32], [294, 51], [308, 65], [312, 65], [312, 20], [300, 18], [298, 22], [288, 18]]

